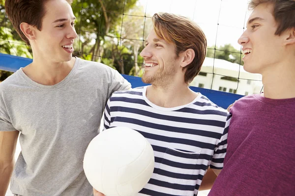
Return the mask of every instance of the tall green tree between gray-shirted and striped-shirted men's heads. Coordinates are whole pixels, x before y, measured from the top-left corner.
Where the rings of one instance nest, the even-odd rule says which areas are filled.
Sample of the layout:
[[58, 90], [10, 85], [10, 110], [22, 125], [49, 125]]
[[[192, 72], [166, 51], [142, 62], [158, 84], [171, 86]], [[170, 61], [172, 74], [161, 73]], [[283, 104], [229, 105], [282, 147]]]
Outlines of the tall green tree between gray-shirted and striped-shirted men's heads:
[[[123, 13], [136, 5], [137, 0], [74, 0], [73, 12], [77, 17], [76, 30], [80, 34], [83, 57], [92, 55], [92, 61], [101, 60], [106, 36], [120, 35]], [[115, 35], [115, 36], [114, 36]]]

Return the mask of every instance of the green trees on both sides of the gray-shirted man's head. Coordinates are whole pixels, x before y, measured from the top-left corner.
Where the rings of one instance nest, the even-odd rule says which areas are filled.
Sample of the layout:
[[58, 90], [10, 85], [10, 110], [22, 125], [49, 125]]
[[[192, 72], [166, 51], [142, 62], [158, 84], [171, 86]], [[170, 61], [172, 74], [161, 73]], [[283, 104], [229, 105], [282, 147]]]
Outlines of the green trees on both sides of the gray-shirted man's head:
[[[125, 69], [122, 63], [134, 58], [131, 52], [133, 48], [129, 45], [122, 46], [122, 42], [115, 43], [115, 37], [122, 37], [122, 18], [128, 10], [136, 6], [136, 2], [137, 0], [74, 0], [72, 8], [77, 18], [76, 30], [79, 34], [74, 45], [74, 55], [101, 61], [118, 69], [120, 73], [129, 73], [132, 66], [127, 66], [127, 62]], [[109, 53], [105, 54], [104, 50]], [[30, 47], [25, 45], [5, 17], [3, 0], [0, 0], [0, 52], [32, 57]]]

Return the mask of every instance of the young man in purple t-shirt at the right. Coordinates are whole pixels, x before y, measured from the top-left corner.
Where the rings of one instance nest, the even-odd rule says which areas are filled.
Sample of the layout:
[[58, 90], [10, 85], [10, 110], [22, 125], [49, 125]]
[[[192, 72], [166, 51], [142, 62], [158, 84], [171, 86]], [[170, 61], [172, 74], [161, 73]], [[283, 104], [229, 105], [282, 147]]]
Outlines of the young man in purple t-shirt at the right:
[[295, 0], [251, 0], [239, 38], [244, 69], [264, 93], [239, 99], [224, 168], [209, 196], [295, 195]]

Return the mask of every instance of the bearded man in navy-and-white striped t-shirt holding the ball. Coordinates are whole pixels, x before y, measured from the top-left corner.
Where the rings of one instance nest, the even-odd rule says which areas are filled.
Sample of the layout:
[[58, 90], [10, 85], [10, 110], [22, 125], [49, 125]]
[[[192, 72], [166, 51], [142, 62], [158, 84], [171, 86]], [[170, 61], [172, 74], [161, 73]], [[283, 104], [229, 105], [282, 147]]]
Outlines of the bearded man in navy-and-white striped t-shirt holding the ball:
[[[105, 108], [105, 129], [125, 126], [152, 145], [155, 168], [139, 196], [196, 196], [210, 166], [223, 168], [228, 112], [189, 89], [206, 56], [207, 39], [185, 17], [155, 14], [141, 52], [142, 80], [150, 86], [114, 93]], [[101, 194], [96, 193], [94, 196]]]

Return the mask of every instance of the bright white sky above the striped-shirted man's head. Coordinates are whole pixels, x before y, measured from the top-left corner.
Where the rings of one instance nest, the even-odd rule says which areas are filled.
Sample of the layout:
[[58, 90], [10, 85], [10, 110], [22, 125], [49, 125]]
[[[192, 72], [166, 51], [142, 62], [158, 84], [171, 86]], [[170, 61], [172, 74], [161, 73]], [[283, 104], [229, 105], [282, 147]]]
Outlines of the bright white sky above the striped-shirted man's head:
[[[248, 0], [139, 0], [147, 15], [168, 12], [188, 17], [205, 32], [208, 46], [237, 43], [251, 12]], [[218, 25], [219, 24], [219, 25]]]

